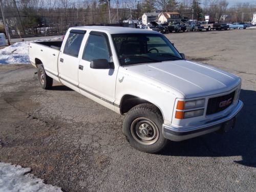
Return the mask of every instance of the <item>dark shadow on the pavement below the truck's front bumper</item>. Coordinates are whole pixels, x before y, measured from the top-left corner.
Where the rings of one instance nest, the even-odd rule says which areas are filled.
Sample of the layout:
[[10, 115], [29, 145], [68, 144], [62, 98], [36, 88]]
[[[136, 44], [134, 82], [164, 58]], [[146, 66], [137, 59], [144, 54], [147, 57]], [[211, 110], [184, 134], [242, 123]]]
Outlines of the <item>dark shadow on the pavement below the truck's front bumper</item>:
[[212, 133], [181, 142], [169, 142], [161, 155], [241, 156], [241, 160], [234, 162], [256, 167], [256, 92], [241, 90], [240, 99], [244, 102], [244, 106], [238, 115], [236, 127], [233, 130], [223, 135]]

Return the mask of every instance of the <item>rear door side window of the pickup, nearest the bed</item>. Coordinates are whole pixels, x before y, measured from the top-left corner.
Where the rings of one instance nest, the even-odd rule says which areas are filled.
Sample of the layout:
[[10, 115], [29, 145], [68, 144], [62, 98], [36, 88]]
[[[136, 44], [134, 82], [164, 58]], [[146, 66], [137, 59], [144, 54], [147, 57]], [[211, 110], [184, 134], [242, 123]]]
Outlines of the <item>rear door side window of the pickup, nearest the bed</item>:
[[82, 33], [70, 32], [63, 53], [78, 57], [83, 36]]

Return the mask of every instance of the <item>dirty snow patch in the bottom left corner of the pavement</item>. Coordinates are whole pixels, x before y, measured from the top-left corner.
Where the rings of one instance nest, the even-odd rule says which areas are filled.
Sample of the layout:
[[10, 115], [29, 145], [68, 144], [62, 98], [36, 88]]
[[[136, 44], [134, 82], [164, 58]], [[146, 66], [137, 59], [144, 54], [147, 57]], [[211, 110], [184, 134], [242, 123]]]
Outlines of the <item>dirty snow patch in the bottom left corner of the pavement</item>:
[[0, 191], [62, 191], [59, 187], [45, 184], [29, 172], [31, 168], [0, 162]]

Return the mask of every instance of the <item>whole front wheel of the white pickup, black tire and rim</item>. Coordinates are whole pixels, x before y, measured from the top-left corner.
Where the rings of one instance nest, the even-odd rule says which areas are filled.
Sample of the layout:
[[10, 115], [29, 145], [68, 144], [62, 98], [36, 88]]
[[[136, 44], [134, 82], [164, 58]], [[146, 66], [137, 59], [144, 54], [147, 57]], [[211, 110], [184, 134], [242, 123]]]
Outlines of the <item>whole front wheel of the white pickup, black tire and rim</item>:
[[162, 134], [163, 117], [153, 104], [134, 106], [123, 121], [123, 134], [131, 146], [145, 153], [158, 153], [167, 144]]

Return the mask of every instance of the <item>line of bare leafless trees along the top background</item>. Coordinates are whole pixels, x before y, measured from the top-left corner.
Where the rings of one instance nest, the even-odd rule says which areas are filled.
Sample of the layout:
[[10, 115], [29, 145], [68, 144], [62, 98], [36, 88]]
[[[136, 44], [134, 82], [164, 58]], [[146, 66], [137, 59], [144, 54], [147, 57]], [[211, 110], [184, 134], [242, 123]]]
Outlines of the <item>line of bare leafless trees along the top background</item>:
[[[69, 27], [121, 23], [139, 19], [145, 12], [178, 11], [185, 19], [220, 22], [250, 21], [256, 6], [228, 6], [226, 0], [0, 0], [11, 35], [65, 33]], [[4, 31], [1, 25], [0, 32]]]

